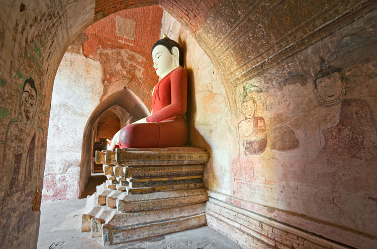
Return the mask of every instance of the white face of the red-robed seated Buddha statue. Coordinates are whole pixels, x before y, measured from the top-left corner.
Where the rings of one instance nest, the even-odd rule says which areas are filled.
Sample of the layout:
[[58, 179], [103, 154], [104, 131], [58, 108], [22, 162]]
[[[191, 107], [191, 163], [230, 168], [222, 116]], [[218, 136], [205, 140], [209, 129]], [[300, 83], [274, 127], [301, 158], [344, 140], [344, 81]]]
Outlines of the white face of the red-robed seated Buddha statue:
[[152, 51], [153, 68], [159, 77], [164, 77], [174, 69], [173, 55], [162, 45], [156, 46]]

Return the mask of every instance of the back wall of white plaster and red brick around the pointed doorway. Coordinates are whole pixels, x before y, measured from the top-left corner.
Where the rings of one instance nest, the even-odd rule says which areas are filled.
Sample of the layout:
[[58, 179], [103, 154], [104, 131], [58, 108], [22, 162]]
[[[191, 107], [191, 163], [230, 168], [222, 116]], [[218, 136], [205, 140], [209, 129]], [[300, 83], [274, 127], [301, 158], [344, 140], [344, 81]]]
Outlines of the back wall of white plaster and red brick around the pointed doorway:
[[[87, 142], [82, 134], [100, 101], [128, 88], [151, 108], [150, 95], [158, 77], [145, 48], [151, 48], [158, 39], [161, 16], [157, 6], [120, 11], [87, 27], [68, 47], [52, 96], [43, 201], [75, 198], [78, 186], [87, 181], [80, 178], [81, 144]], [[103, 84], [100, 96], [93, 93], [98, 84]], [[130, 115], [121, 109], [126, 113], [122, 123], [126, 123]], [[105, 137], [120, 130], [113, 127], [104, 132], [106, 128], [99, 128], [101, 134], [107, 134]], [[85, 167], [90, 168], [90, 163]]]

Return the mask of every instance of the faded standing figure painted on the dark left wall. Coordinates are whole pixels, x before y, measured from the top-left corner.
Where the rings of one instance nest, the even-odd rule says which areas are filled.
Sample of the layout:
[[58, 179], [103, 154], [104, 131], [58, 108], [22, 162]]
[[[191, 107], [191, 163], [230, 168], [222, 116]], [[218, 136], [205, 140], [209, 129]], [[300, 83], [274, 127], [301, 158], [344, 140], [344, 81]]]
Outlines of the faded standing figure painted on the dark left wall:
[[[1, 211], [7, 210], [40, 211], [41, 191], [36, 186], [38, 162], [35, 160], [37, 129], [33, 121], [37, 111], [37, 88], [32, 77], [26, 78], [20, 87], [19, 115], [9, 121], [6, 130], [2, 168], [10, 164], [10, 171], [2, 171], [1, 187], [5, 196], [1, 199]], [[11, 140], [12, 139], [12, 140]], [[26, 140], [26, 142], [25, 142]], [[22, 143], [24, 142], [24, 143]], [[25, 144], [21, 147], [20, 144]], [[42, 165], [44, 166], [44, 165]], [[26, 198], [25, 198], [26, 197]], [[7, 216], [2, 229], [11, 231], [13, 240], [23, 232], [34, 219], [30, 212]]]

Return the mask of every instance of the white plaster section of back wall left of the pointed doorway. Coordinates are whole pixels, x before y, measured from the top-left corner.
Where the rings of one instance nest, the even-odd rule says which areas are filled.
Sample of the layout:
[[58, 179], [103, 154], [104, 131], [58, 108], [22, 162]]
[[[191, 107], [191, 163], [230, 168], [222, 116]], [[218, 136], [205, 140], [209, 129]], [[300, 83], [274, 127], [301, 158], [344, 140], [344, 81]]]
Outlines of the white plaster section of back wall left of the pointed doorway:
[[64, 54], [51, 98], [42, 201], [78, 196], [82, 134], [100, 103], [102, 78], [99, 62], [81, 53]]

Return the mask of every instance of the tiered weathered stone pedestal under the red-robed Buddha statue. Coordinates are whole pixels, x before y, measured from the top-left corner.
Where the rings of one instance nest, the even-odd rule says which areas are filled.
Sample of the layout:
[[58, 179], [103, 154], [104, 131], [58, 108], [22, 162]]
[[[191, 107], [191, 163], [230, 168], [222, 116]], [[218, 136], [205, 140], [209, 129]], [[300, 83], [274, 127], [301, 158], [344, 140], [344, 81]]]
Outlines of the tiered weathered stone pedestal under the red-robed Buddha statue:
[[108, 180], [87, 197], [81, 231], [109, 245], [205, 225], [208, 159], [194, 147], [97, 151]]

